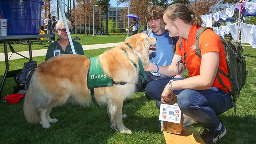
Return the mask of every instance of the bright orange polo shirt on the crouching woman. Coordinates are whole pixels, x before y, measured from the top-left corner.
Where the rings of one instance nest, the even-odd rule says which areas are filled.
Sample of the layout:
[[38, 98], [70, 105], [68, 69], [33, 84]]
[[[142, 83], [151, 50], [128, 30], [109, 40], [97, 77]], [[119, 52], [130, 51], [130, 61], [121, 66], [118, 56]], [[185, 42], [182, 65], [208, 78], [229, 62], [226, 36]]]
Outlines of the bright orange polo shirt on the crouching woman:
[[[182, 62], [186, 62], [186, 69], [188, 70], [188, 75], [196, 76], [200, 75], [200, 65], [201, 65], [201, 58], [196, 55], [196, 32], [200, 27], [196, 27], [193, 25], [190, 29], [188, 34], [187, 46], [185, 39], [182, 38], [182, 47], [179, 47], [179, 40], [176, 44], [176, 52], [175, 54], [182, 56]], [[207, 29], [205, 30], [199, 37], [199, 48], [201, 50], [201, 55], [208, 53], [208, 52], [218, 52], [219, 53], [219, 69], [224, 71], [226, 75], [228, 75], [228, 69], [226, 65], [226, 56], [225, 50], [223, 48], [222, 41], [220, 40], [219, 36], [212, 30]], [[186, 60], [184, 59], [184, 53], [186, 52]], [[220, 78], [222, 79], [224, 85], [228, 86], [231, 90], [231, 84], [224, 75], [220, 74]], [[222, 86], [217, 76], [215, 76], [213, 87], [218, 87], [219, 89], [224, 90], [228, 93], [228, 90]]]

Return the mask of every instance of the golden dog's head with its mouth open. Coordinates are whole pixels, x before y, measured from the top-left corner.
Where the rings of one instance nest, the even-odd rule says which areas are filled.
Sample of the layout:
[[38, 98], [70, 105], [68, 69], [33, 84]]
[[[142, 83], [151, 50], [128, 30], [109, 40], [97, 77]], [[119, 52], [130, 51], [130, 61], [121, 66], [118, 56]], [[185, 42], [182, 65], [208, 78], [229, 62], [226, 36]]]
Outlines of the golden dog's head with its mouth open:
[[140, 58], [143, 66], [146, 66], [149, 61], [149, 53], [156, 50], [156, 38], [148, 37], [145, 33], [135, 34], [124, 41], [129, 43], [133, 48], [134, 53]]

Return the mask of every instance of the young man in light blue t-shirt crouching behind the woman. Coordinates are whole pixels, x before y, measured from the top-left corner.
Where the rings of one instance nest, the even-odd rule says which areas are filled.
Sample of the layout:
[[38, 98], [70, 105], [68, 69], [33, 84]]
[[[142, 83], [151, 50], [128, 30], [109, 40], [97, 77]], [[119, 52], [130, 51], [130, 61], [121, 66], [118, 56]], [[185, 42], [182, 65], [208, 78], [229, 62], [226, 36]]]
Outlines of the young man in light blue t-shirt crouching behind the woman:
[[[146, 19], [148, 20], [148, 25], [151, 30], [144, 31], [143, 33], [148, 32], [149, 37], [157, 38], [156, 50], [154, 53], [150, 53], [150, 62], [158, 65], [170, 65], [172, 62], [172, 58], [174, 57], [174, 49], [176, 46], [176, 42], [178, 37], [171, 38], [169, 37], [168, 31], [164, 30], [164, 27], [161, 25], [161, 15], [164, 12], [164, 9], [161, 6], [150, 6], [146, 11]], [[154, 73], [153, 71], [146, 72], [146, 80], [142, 82], [142, 79], [139, 77], [139, 81], [137, 84], [137, 92], [145, 92], [146, 97], [151, 97], [156, 100], [156, 107], [160, 108], [161, 97], [155, 98], [155, 90], [152, 89], [154, 87], [153, 81], [158, 81], [162, 79], [162, 81], [170, 81], [173, 77], [164, 76], [158, 73]], [[175, 78], [182, 78], [183, 70], [180, 74], [176, 75]], [[164, 87], [161, 91], [164, 90]]]

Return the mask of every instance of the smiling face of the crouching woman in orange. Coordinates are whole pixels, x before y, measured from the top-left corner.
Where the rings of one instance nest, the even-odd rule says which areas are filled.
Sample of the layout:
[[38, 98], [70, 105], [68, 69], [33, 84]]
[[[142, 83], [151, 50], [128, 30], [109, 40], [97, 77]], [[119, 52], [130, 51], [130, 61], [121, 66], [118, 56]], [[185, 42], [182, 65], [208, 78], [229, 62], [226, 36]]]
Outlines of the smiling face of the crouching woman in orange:
[[170, 37], [176, 37], [178, 35], [178, 29], [174, 23], [164, 14], [163, 20], [165, 23], [165, 30], [168, 31]]

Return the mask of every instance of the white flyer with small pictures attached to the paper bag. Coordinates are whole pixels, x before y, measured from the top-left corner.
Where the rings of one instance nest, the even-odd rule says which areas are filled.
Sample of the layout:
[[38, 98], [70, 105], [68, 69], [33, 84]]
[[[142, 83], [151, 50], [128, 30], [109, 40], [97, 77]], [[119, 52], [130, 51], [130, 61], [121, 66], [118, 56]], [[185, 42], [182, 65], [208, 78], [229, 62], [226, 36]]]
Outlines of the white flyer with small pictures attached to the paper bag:
[[159, 120], [173, 122], [173, 123], [180, 123], [180, 120], [181, 120], [180, 108], [178, 106], [161, 103]]

